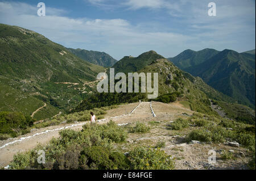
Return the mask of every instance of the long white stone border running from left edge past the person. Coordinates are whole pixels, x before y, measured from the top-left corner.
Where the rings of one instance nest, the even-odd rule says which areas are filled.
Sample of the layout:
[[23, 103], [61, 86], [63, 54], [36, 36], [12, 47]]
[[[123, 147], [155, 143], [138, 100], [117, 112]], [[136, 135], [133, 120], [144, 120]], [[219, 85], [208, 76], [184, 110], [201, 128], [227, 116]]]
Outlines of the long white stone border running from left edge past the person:
[[[106, 121], [108, 119], [113, 119], [113, 118], [117, 118], [117, 117], [122, 117], [122, 116], [128, 116], [128, 115], [131, 115], [131, 113], [133, 113], [139, 106], [141, 106], [142, 102], [134, 108], [133, 111], [131, 111], [130, 113], [128, 114], [125, 114], [125, 115], [121, 115], [121, 116], [115, 116], [115, 117], [109, 117], [109, 118], [106, 118], [106, 119], [101, 119], [101, 120], [97, 120], [98, 123], [102, 122], [102, 121]], [[40, 134], [46, 134], [48, 132], [53, 132], [53, 131], [59, 131], [59, 130], [62, 130], [62, 129], [68, 129], [68, 128], [72, 128], [72, 127], [77, 127], [77, 126], [80, 126], [80, 125], [84, 125], [84, 124], [87, 124], [88, 122], [86, 123], [80, 123], [80, 124], [72, 124], [70, 126], [67, 126], [67, 127], [62, 127], [62, 128], [57, 128], [57, 129], [50, 129], [50, 130], [46, 130], [44, 132], [41, 132], [41, 133], [36, 133], [36, 134], [33, 134], [32, 136], [27, 136], [27, 137], [21, 137], [19, 138], [19, 140], [15, 140], [15, 141], [12, 141], [12, 142], [9, 142], [3, 146], [0, 147], [0, 149], [2, 148], [5, 148], [5, 146], [8, 146], [8, 145], [11, 145], [11, 144], [15, 144], [15, 142], [19, 142], [19, 141], [22, 141], [22, 140], [26, 140], [28, 138], [31, 138], [31, 137], [34, 137], [34, 136], [38, 136]]]

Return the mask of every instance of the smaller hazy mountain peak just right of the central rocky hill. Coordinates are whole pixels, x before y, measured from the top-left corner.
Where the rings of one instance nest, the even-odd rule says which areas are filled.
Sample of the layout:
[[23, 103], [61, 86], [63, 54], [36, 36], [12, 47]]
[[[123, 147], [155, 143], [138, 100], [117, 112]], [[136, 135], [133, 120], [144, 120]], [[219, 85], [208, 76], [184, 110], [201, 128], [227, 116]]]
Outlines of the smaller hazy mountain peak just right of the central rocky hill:
[[217, 53], [218, 53], [217, 50], [209, 49], [209, 48], [206, 48], [197, 52], [188, 49], [178, 54], [174, 58], [168, 58], [168, 60], [173, 62], [178, 68], [185, 69], [185, 68], [189, 68], [190, 66], [201, 64], [205, 60], [216, 55]]

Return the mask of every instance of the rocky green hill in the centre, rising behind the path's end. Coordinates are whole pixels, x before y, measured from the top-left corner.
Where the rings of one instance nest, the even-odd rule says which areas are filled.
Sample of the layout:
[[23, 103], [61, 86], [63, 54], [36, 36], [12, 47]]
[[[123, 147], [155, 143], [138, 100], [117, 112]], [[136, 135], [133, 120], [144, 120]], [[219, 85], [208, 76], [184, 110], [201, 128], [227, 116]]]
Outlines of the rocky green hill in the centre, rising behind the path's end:
[[[150, 51], [143, 53], [142, 55], [143, 56], [132, 58], [132, 60], [136, 60], [134, 65], [137, 66], [138, 73], [159, 73], [159, 95], [158, 98], [154, 100], [164, 103], [175, 102], [176, 100], [184, 100], [193, 111], [208, 113], [210, 115], [217, 115], [217, 112], [212, 110], [210, 107], [211, 104], [209, 99], [236, 103], [236, 100], [233, 98], [224, 95], [217, 90], [214, 90], [212, 87], [208, 86], [201, 78], [193, 77], [191, 74], [180, 70], [174, 64], [172, 64], [172, 62], [168, 61], [166, 58], [163, 58], [156, 52]], [[141, 64], [144, 64], [145, 60], [148, 60], [148, 62], [151, 63], [143, 67]], [[123, 61], [125, 63], [123, 63]], [[118, 64], [126, 64], [126, 61], [127, 59], [123, 58], [118, 62]], [[143, 68], [139, 69], [141, 67]], [[126, 67], [119, 67], [118, 71], [131, 72], [131, 70], [128, 70]], [[115, 73], [118, 71], [115, 69]], [[115, 82], [118, 81], [119, 80], [115, 80]], [[90, 96], [88, 99], [83, 100], [82, 103], [80, 103], [74, 111], [90, 110], [95, 107], [110, 106], [120, 103], [138, 102], [138, 100], [147, 101], [148, 99], [146, 94], [141, 92], [119, 94], [98, 93], [96, 95]], [[231, 105], [232, 104], [228, 104], [228, 108], [226, 108], [226, 110], [230, 110]], [[238, 107], [241, 106], [239, 104], [237, 105]], [[243, 119], [246, 114], [232, 116], [230, 117], [240, 120]], [[246, 120], [251, 121], [251, 117], [253, 116], [248, 116], [249, 119]], [[255, 118], [255, 116], [253, 118]]]

